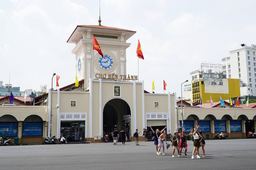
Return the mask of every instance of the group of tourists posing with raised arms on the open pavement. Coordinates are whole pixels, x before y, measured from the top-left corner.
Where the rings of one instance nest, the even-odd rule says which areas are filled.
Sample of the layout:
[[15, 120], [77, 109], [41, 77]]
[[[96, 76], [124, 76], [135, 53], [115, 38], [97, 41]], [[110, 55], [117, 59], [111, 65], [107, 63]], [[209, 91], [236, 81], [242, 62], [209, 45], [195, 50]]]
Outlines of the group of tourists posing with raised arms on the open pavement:
[[[155, 149], [157, 150], [157, 154], [160, 155], [161, 152], [161, 148], [163, 148], [163, 153], [162, 155], [165, 155], [165, 145], [169, 145], [166, 141], [166, 127], [162, 130], [159, 131], [159, 129], [156, 129], [155, 131], [152, 129], [151, 126], [149, 126], [150, 129], [152, 130], [152, 133], [154, 134], [154, 145], [155, 145]], [[189, 134], [191, 136], [191, 139], [193, 141], [193, 153], [192, 153], [192, 159], [194, 159], [194, 154], [196, 155], [196, 158], [201, 158], [199, 156], [199, 148], [202, 146], [202, 150], [203, 150], [203, 157], [205, 157], [205, 150], [204, 150], [204, 146], [205, 146], [205, 141], [203, 139], [203, 135], [202, 135], [202, 130], [198, 130], [198, 128], [200, 127], [200, 125], [198, 125], [197, 127], [191, 129], [191, 133]], [[174, 135], [172, 137], [172, 157], [174, 158], [174, 153], [175, 150], [177, 149], [178, 152], [178, 157], [181, 157], [181, 153], [182, 153], [182, 149], [185, 149], [184, 155], [187, 156], [187, 136], [184, 134], [185, 129], [183, 127], [177, 127], [176, 130], [174, 131]]]

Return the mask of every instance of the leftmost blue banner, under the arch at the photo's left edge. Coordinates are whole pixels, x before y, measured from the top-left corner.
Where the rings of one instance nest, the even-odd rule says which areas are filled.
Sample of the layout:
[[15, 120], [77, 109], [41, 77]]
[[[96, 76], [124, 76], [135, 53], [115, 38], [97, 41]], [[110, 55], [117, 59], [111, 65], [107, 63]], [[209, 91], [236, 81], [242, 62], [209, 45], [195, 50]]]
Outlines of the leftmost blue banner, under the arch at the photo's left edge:
[[2, 137], [6, 130], [7, 137], [18, 136], [18, 123], [0, 123], [0, 136]]

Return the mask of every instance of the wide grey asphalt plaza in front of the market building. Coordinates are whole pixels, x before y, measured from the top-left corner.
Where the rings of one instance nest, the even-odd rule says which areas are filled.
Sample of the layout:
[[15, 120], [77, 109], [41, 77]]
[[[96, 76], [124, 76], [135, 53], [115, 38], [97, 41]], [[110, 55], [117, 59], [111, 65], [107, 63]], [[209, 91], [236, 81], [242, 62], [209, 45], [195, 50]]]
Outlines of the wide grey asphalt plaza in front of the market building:
[[[168, 141], [169, 142], [169, 141]], [[206, 157], [191, 159], [192, 141], [188, 141], [188, 156], [172, 158], [172, 148], [166, 155], [157, 155], [154, 142], [0, 146], [1, 170], [249, 170], [256, 169], [256, 139], [206, 140]], [[162, 150], [161, 150], [162, 152]], [[202, 156], [202, 149], [200, 149]]]

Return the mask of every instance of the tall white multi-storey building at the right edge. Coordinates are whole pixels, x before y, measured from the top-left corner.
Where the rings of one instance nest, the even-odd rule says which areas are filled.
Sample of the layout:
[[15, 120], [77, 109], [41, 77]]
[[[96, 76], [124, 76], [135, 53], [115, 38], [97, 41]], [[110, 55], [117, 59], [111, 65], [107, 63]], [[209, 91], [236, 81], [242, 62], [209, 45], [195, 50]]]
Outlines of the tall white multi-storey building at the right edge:
[[256, 46], [241, 46], [222, 59], [223, 72], [226, 72], [227, 78], [240, 79], [241, 96], [256, 96]]

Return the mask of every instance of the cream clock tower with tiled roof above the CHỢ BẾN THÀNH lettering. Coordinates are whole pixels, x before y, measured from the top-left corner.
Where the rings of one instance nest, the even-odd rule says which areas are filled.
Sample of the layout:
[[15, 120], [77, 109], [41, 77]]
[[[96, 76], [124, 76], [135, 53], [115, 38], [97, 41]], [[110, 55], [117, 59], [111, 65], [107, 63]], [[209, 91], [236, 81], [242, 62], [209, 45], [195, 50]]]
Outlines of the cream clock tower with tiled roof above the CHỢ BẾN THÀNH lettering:
[[[126, 41], [136, 32], [105, 27], [102, 25], [78, 25], [67, 43], [75, 43], [72, 53], [76, 55], [76, 76], [84, 79], [84, 88], [89, 79], [98, 79], [99, 74], [126, 75]], [[93, 35], [97, 39], [103, 57], [93, 50]]]

